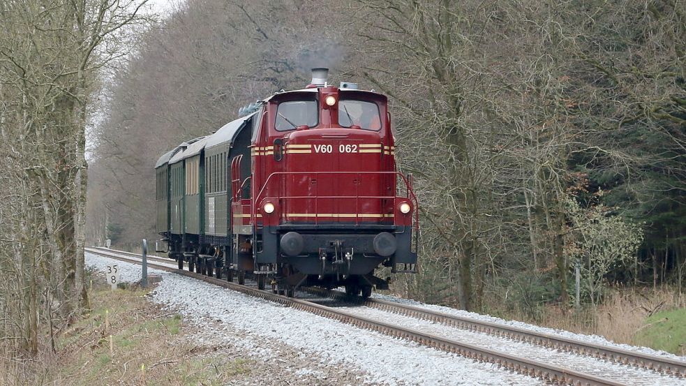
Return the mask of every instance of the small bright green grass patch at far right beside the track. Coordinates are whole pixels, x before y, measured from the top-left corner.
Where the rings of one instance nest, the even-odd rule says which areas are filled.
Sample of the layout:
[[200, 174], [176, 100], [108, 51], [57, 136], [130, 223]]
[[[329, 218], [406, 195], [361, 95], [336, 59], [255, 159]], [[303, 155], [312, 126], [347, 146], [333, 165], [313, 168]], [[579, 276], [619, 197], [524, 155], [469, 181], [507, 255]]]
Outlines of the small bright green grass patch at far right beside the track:
[[636, 333], [636, 344], [676, 355], [686, 355], [686, 309], [653, 314]]

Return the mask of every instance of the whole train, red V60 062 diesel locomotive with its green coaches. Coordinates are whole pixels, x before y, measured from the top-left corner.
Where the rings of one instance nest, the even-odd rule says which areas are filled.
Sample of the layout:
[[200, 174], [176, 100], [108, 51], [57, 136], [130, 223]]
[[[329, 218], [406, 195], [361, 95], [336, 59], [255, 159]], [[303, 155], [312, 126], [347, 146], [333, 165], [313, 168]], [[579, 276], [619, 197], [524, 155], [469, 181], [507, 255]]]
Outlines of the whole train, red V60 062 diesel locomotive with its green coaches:
[[376, 269], [414, 272], [417, 198], [396, 170], [387, 98], [327, 74], [159, 159], [157, 228], [179, 269], [364, 297], [388, 288]]

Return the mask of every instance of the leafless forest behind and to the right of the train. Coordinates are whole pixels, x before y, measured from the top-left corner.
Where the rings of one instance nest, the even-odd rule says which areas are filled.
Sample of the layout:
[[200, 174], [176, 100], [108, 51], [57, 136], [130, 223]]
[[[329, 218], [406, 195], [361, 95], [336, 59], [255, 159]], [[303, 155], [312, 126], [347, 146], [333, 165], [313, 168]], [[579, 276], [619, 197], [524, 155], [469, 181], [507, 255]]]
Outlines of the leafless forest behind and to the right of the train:
[[[681, 293], [680, 1], [191, 0], [118, 68], [89, 176], [89, 240], [156, 237], [153, 165], [239, 107], [332, 79], [389, 95], [417, 180], [419, 274], [395, 290], [475, 311]], [[488, 299], [488, 300], [486, 300]]]

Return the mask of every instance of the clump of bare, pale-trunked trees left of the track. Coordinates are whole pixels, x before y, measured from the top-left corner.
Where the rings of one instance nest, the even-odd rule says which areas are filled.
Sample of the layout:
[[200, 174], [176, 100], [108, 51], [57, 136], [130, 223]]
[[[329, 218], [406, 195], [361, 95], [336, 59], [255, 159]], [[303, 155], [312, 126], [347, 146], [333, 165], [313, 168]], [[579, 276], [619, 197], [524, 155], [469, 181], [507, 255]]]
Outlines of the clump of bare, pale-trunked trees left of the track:
[[88, 106], [98, 69], [121, 54], [120, 33], [137, 22], [142, 3], [0, 5], [0, 133], [8, 144], [0, 151], [1, 226], [8, 235], [0, 256], [15, 262], [2, 272], [8, 334], [1, 346], [8, 355], [36, 355], [46, 329], [52, 338], [61, 328], [55, 325], [64, 326], [87, 306]]

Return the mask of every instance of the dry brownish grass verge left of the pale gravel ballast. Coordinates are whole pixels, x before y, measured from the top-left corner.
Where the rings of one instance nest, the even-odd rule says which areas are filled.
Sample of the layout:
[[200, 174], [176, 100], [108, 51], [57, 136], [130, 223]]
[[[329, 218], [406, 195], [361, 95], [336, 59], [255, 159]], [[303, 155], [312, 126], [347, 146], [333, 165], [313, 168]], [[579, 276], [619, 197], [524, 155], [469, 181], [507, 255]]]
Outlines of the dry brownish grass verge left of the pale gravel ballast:
[[181, 316], [147, 302], [146, 293], [137, 288], [91, 289], [91, 312], [56, 341], [59, 362], [50, 377], [53, 382], [214, 386], [249, 376], [251, 361], [191, 346], [184, 339]]

